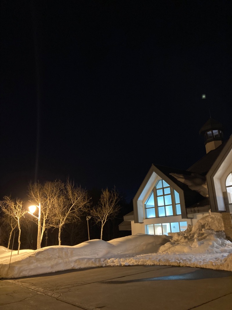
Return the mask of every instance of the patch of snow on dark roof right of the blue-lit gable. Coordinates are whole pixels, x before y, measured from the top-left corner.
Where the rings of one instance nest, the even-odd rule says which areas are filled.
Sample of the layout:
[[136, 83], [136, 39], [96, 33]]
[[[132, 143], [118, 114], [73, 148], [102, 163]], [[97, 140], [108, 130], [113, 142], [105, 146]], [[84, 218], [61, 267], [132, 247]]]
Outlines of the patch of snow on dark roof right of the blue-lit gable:
[[178, 181], [188, 185], [192, 191], [196, 191], [203, 197], [208, 197], [208, 188], [206, 184], [206, 179], [204, 176], [197, 173], [191, 173], [191, 175], [182, 175], [177, 173], [170, 173]]

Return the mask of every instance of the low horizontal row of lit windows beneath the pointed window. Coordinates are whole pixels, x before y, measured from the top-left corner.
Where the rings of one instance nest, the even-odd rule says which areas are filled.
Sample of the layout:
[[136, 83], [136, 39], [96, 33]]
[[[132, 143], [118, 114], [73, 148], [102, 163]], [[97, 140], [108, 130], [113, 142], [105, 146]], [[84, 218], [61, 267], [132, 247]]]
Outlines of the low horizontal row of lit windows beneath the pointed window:
[[167, 235], [169, 232], [181, 232], [187, 229], [187, 222], [146, 225], [148, 235]]

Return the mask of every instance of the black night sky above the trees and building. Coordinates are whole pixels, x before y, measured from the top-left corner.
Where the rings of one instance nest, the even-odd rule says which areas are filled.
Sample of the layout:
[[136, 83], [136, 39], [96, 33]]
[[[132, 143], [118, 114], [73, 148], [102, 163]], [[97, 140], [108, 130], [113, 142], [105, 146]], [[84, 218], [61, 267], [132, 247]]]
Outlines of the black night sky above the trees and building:
[[152, 163], [187, 169], [205, 154], [209, 109], [228, 139], [231, 9], [2, 0], [0, 199], [26, 196], [37, 141], [41, 182], [69, 175], [130, 201]]

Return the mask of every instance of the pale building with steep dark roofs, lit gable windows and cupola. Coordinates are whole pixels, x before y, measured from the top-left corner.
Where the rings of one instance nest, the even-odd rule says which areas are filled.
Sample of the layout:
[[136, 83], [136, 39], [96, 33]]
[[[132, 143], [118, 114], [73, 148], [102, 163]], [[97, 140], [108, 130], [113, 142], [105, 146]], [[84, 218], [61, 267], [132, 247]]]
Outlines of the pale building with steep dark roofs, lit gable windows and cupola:
[[206, 155], [187, 170], [152, 165], [120, 230], [167, 235], [209, 212], [221, 212], [226, 236], [232, 239], [232, 135], [223, 142], [222, 126], [212, 118], [200, 134]]

